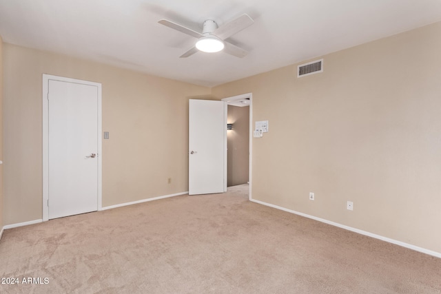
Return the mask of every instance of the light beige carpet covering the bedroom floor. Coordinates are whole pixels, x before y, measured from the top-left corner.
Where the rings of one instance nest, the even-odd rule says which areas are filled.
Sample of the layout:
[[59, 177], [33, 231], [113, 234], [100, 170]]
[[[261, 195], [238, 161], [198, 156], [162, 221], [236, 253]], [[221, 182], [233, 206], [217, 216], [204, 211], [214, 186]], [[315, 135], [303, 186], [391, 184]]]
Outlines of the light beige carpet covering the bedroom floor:
[[249, 202], [247, 185], [6, 230], [0, 275], [20, 282], [0, 293], [441, 293], [440, 259]]

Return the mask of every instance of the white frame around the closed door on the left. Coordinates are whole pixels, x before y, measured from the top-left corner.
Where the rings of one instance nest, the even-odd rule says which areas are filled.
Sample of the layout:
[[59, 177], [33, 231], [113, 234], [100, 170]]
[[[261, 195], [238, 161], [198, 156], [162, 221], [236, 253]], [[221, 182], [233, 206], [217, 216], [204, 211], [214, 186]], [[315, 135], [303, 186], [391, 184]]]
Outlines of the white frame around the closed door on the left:
[[92, 85], [98, 89], [98, 211], [102, 209], [102, 124], [101, 124], [101, 83], [78, 80], [76, 78], [65, 78], [63, 76], [53, 76], [51, 74], [43, 74], [43, 222], [49, 220], [49, 103], [48, 91], [49, 81], [60, 81], [66, 83], [77, 83], [82, 85]]

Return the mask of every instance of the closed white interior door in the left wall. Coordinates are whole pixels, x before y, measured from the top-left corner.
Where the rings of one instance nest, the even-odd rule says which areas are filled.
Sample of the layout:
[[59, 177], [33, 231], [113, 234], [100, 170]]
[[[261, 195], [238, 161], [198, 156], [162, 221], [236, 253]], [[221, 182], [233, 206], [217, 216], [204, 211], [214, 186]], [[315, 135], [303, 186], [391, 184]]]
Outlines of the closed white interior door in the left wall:
[[97, 85], [48, 80], [49, 219], [98, 210], [100, 99]]

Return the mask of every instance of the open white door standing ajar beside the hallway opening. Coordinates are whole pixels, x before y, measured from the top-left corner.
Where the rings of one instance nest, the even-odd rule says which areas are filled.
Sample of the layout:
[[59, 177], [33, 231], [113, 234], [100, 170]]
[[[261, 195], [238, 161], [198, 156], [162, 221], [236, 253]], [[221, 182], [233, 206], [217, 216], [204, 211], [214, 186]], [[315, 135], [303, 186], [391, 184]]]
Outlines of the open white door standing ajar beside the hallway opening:
[[189, 100], [189, 195], [227, 191], [223, 101]]

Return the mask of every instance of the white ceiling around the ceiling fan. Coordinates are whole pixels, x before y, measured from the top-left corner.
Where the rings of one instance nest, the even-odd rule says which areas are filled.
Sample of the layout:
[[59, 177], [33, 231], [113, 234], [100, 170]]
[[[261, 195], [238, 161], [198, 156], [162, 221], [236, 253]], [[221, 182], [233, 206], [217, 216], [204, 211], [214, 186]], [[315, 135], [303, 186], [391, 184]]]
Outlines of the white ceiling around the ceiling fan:
[[[247, 13], [255, 23], [229, 41], [249, 50], [179, 56], [202, 31]], [[441, 0], [0, 0], [6, 43], [212, 87], [441, 21]]]

